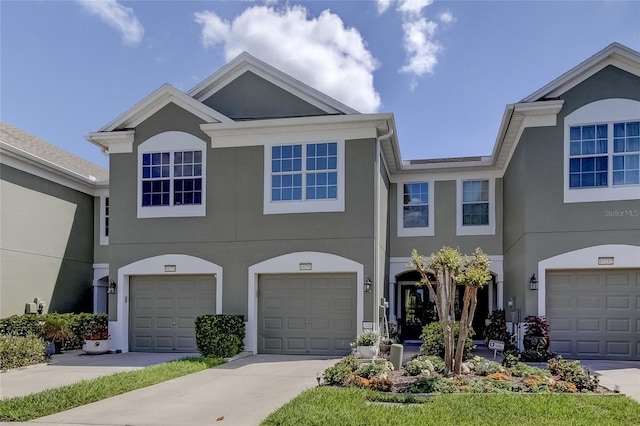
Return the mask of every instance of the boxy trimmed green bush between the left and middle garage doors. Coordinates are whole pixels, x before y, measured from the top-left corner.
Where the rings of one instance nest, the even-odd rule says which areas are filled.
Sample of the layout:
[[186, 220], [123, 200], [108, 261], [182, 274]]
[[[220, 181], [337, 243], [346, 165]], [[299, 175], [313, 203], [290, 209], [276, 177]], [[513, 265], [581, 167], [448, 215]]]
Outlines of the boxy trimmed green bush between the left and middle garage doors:
[[242, 315], [200, 315], [195, 326], [196, 344], [203, 356], [228, 358], [244, 349]]

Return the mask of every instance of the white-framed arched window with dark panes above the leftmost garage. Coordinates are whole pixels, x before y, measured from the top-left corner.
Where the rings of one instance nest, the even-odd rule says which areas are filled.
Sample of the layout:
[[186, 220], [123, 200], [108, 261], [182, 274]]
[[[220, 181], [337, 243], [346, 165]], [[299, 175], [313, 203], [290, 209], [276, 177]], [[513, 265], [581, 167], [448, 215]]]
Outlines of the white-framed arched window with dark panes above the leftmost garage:
[[204, 216], [206, 142], [164, 132], [138, 147], [138, 218]]

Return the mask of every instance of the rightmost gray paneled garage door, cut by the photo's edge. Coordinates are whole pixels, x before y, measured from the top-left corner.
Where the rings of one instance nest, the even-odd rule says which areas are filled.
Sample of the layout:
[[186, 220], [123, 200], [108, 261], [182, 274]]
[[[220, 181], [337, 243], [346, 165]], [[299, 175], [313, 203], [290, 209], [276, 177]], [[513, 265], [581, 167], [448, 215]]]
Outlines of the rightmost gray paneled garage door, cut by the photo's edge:
[[546, 298], [552, 351], [640, 360], [640, 270], [554, 271]]

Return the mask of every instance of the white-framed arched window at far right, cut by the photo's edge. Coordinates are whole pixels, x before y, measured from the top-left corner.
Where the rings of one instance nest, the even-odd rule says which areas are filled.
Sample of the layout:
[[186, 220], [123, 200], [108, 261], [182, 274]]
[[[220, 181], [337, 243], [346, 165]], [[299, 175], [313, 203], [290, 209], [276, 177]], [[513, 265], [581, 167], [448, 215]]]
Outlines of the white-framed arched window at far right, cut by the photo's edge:
[[640, 190], [640, 102], [604, 99], [564, 120], [564, 202], [630, 200]]

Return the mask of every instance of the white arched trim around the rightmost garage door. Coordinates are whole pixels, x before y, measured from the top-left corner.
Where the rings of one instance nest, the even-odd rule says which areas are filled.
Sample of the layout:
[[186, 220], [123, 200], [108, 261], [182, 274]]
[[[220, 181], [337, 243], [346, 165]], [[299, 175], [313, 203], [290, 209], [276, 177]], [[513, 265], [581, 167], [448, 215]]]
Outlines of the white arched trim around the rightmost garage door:
[[[614, 264], [598, 265], [599, 257], [613, 257]], [[640, 246], [604, 244], [552, 256], [538, 262], [538, 315], [546, 314], [547, 272], [562, 269], [638, 269]]]

